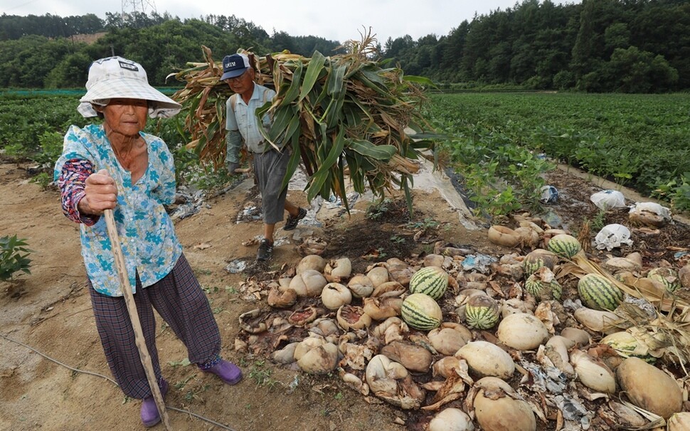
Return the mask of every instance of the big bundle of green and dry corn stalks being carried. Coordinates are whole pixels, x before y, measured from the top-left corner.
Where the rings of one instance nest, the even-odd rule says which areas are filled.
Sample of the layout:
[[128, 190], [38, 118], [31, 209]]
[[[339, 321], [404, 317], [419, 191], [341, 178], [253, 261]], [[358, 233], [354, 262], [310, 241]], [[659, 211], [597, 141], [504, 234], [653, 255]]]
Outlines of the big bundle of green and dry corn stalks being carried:
[[[256, 115], [272, 117], [267, 142], [292, 149], [285, 185], [302, 161], [308, 201], [335, 195], [349, 210], [345, 188], [349, 171], [355, 191], [363, 193], [368, 186], [375, 196], [383, 197], [397, 187], [404, 191], [411, 210], [415, 160], [423, 151], [434, 150], [435, 139], [440, 138], [428, 132], [420, 111], [423, 85], [432, 83], [404, 76], [400, 68], [381, 68], [371, 59], [375, 43], [370, 31], [361, 41], [346, 43], [347, 54], [330, 57], [318, 51], [312, 58], [287, 52], [259, 57], [238, 50], [250, 58], [257, 82], [277, 93]], [[225, 158], [225, 100], [232, 91], [220, 81], [222, 66], [213, 61], [211, 50], [203, 47], [203, 53], [206, 63], [188, 63], [191, 68], [174, 75], [186, 86], [173, 98], [187, 113], [185, 126], [192, 139], [188, 147], [203, 162], [218, 167]], [[415, 133], [408, 135], [407, 128]]]

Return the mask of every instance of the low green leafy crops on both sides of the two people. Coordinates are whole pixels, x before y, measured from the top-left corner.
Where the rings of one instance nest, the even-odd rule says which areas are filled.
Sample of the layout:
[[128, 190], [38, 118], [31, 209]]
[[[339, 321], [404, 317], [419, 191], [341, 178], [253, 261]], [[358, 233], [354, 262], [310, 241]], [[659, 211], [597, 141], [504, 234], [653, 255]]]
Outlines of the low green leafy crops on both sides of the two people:
[[[0, 94], [0, 151], [50, 166], [68, 125], [87, 122], [78, 97]], [[448, 134], [447, 158], [488, 213], [536, 203], [540, 175], [553, 169], [548, 159], [690, 210], [690, 95], [461, 93], [431, 95], [425, 110]], [[177, 117], [148, 125], [176, 149], [179, 179], [195, 165], [181, 124]]]

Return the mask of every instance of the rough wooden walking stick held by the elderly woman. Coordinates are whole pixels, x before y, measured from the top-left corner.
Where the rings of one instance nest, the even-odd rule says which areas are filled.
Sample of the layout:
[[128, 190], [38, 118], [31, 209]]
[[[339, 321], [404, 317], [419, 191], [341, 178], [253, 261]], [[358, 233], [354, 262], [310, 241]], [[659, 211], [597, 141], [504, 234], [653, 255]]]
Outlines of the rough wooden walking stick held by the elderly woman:
[[120, 235], [117, 235], [117, 227], [115, 226], [115, 218], [112, 215], [112, 210], [105, 210], [105, 225], [108, 230], [108, 237], [112, 245], [112, 252], [115, 255], [115, 267], [117, 267], [117, 275], [120, 277], [120, 287], [124, 293], [124, 303], [127, 304], [127, 312], [129, 313], [129, 320], [132, 321], [132, 329], [134, 329], [134, 344], [137, 344], [139, 350], [139, 358], [142, 359], [144, 371], [146, 371], [146, 378], [149, 381], [149, 386], [156, 401], [158, 413], [163, 420], [163, 426], [166, 430], [172, 430], [168, 413], [165, 411], [165, 403], [163, 395], [158, 387], [156, 381], [156, 373], [151, 362], [149, 350], [146, 347], [146, 339], [144, 339], [144, 331], [142, 331], [142, 322], [139, 321], [139, 314], [137, 314], [137, 304], [134, 304], [134, 294], [132, 294], [132, 284], [129, 284], [129, 277], [127, 276], [127, 265], [124, 264], [124, 255], [122, 255], [122, 245], [120, 245]]

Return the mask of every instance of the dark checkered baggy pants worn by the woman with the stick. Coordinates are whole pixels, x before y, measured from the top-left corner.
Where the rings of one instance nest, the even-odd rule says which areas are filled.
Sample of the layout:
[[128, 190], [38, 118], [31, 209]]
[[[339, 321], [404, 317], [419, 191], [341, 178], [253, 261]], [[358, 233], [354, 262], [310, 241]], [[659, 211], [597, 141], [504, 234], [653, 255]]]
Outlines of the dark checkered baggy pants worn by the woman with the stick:
[[[115, 381], [128, 397], [151, 396], [124, 297], [109, 297], [96, 292], [90, 281], [88, 285], [98, 335]], [[161, 381], [161, 366], [156, 349], [154, 308], [187, 347], [191, 363], [213, 361], [220, 354], [221, 335], [216, 318], [184, 255], [168, 275], [149, 287], [142, 288], [137, 277], [134, 303], [157, 381]]]

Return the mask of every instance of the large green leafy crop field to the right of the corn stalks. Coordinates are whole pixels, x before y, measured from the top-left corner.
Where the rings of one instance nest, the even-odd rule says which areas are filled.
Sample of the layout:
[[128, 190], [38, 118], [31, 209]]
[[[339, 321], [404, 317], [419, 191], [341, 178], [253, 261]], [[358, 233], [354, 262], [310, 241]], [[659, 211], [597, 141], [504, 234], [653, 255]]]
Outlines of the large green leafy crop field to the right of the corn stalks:
[[483, 190], [472, 198], [489, 213], [535, 201], [538, 175], [553, 168], [544, 156], [690, 210], [688, 94], [462, 93], [431, 100], [428, 117], [452, 134], [445, 146], [452, 164], [470, 188]]

